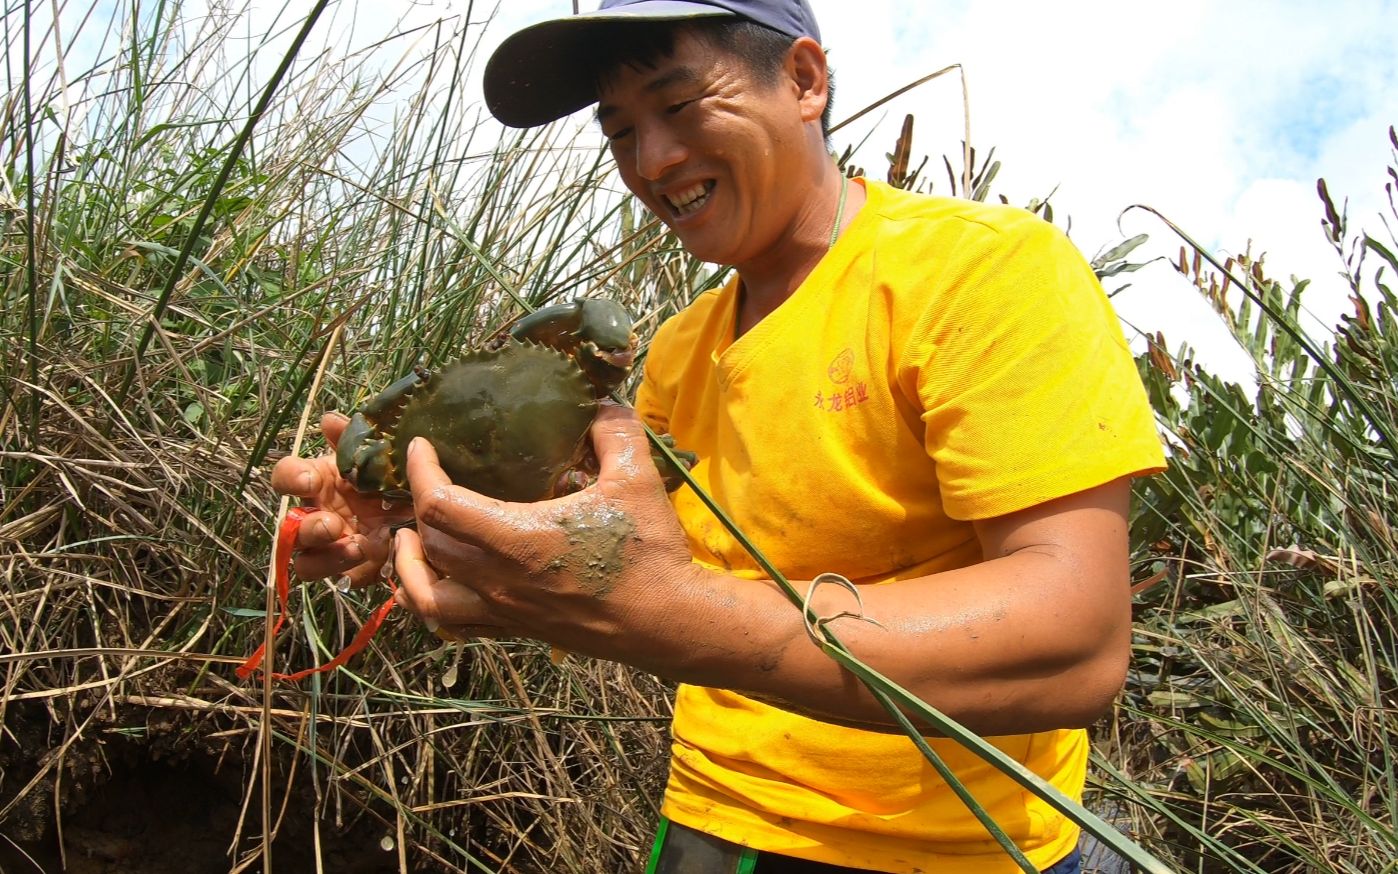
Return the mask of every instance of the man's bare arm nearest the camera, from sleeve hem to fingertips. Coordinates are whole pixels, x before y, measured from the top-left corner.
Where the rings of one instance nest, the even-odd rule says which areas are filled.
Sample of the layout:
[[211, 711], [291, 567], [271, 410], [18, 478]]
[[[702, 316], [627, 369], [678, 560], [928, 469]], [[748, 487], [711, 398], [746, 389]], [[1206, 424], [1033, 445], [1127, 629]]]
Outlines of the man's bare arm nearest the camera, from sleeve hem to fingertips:
[[[830, 720], [891, 724], [772, 583], [691, 562], [658, 474], [630, 461], [644, 446], [633, 415], [604, 410], [593, 432], [597, 484], [527, 505], [452, 485], [429, 445], [410, 446], [425, 548], [398, 547], [404, 604], [463, 633], [533, 636]], [[988, 561], [861, 587], [863, 614], [879, 624], [829, 626], [871, 667], [980, 734], [1086, 724], [1125, 671], [1128, 503], [1120, 478], [976, 520]], [[835, 586], [812, 606], [822, 617], [857, 610]]]

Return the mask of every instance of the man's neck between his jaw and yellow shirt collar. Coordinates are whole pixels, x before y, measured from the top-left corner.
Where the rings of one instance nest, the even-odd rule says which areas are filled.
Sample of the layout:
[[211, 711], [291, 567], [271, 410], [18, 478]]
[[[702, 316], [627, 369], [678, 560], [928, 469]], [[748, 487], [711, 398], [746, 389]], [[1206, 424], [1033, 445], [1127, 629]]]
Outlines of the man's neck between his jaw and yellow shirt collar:
[[[843, 234], [864, 206], [864, 186], [849, 185], [840, 208], [842, 175], [833, 162], [822, 168], [815, 192], [788, 232], [762, 256], [737, 264], [742, 280], [737, 336], [742, 336], [790, 298], [830, 249], [832, 231]], [[839, 228], [836, 229], [836, 217]]]

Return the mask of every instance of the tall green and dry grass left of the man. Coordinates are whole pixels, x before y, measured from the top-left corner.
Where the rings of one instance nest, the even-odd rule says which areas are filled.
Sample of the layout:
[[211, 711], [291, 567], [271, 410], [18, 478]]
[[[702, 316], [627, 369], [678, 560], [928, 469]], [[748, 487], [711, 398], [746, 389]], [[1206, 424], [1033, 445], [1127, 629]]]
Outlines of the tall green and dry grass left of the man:
[[[366, 42], [337, 7], [52, 8], [4, 17], [0, 832], [73, 849], [85, 800], [164, 757], [238, 776], [221, 860], [183, 870], [257, 868], [298, 812], [285, 870], [336, 870], [350, 833], [366, 870], [628, 867], [664, 775], [654, 680], [412, 622], [267, 701], [229, 664], [263, 633], [270, 463], [319, 450], [305, 413], [559, 296], [649, 331], [710, 274], [590, 138], [499, 137], [466, 95], [470, 14]], [[380, 599], [306, 585], [280, 667]]]

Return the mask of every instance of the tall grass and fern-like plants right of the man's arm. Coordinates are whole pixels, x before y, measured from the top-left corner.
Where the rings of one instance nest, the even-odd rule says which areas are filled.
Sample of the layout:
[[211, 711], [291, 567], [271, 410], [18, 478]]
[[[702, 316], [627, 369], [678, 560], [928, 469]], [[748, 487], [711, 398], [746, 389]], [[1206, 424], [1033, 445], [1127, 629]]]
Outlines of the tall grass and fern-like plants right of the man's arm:
[[1380, 232], [1318, 185], [1352, 306], [1332, 333], [1303, 327], [1307, 281], [1181, 232], [1176, 268], [1251, 357], [1255, 392], [1160, 336], [1141, 358], [1172, 459], [1138, 484], [1135, 659], [1102, 765], [1132, 780], [1137, 829], [1184, 870], [1398, 870], [1388, 136]]

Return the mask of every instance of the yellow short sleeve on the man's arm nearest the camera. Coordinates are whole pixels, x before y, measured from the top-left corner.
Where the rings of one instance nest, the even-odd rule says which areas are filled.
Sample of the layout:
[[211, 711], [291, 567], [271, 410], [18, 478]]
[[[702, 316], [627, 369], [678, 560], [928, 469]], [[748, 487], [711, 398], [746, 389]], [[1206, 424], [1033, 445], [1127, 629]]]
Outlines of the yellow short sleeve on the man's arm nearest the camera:
[[1117, 316], [1068, 238], [1023, 214], [963, 239], [909, 352], [948, 515], [988, 519], [1163, 470]]

